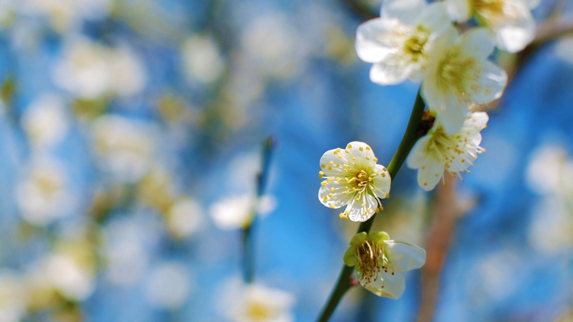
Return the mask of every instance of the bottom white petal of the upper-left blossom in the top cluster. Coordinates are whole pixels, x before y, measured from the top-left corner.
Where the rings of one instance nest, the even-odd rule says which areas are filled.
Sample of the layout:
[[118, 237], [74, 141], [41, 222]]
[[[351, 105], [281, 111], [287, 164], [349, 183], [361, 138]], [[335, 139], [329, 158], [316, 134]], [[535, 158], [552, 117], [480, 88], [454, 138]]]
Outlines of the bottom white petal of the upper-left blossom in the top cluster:
[[414, 66], [401, 54], [388, 54], [382, 61], [372, 65], [370, 80], [380, 85], [400, 84], [410, 76]]

